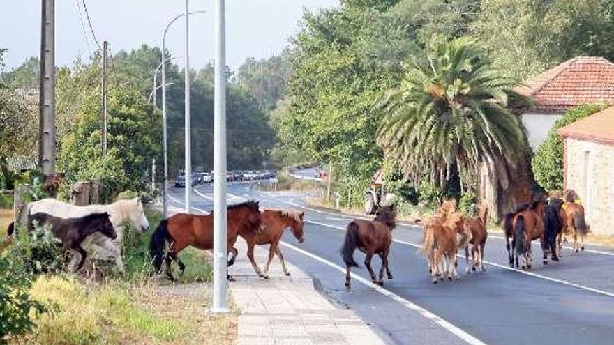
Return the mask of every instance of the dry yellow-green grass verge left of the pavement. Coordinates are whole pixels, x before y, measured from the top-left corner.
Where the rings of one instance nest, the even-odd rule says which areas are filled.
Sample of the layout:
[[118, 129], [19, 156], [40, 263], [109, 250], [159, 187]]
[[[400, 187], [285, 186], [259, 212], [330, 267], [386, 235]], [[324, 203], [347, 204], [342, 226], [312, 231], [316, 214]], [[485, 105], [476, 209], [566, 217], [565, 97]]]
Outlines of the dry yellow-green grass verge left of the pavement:
[[58, 311], [40, 316], [35, 332], [15, 344], [232, 344], [237, 313], [204, 314], [206, 287], [197, 293], [153, 284], [82, 283], [74, 277], [40, 277], [31, 293]]

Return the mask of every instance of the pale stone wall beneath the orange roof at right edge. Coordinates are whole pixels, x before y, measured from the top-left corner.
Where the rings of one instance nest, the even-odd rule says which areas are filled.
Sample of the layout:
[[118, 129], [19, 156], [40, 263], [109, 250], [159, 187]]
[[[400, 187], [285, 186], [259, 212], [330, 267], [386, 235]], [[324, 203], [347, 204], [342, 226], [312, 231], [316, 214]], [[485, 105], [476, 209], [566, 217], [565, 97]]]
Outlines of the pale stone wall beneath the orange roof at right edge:
[[578, 193], [593, 233], [614, 235], [614, 146], [567, 138], [565, 188]]

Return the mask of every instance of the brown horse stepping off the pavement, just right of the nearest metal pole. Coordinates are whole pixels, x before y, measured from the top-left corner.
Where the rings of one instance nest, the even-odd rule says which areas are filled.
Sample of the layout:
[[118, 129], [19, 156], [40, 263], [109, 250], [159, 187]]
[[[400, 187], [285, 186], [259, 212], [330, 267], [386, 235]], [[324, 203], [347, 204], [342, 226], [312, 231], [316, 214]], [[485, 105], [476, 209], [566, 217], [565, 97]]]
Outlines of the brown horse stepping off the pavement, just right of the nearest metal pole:
[[[297, 238], [299, 243], [303, 243], [305, 235], [303, 232], [303, 217], [304, 212], [298, 212], [294, 210], [263, 210], [262, 211], [262, 231], [259, 231], [255, 236], [243, 236], [248, 245], [248, 257], [256, 274], [264, 279], [269, 279], [269, 266], [275, 255], [281, 261], [281, 267], [283, 268], [284, 275], [289, 276], [285, 267], [285, 261], [283, 255], [279, 249], [279, 240], [283, 236], [283, 231], [290, 227], [294, 237]], [[269, 246], [269, 259], [267, 265], [264, 266], [264, 272], [260, 271], [258, 264], [254, 259], [254, 246], [255, 245], [270, 245]]]

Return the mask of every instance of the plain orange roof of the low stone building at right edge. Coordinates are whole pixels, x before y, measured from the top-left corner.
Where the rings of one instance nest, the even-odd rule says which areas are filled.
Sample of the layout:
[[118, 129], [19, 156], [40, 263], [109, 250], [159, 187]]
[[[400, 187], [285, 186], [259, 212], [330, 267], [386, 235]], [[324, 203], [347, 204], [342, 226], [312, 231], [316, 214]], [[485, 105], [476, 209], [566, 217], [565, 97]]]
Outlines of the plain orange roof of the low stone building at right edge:
[[557, 132], [563, 137], [614, 145], [614, 107], [566, 125]]

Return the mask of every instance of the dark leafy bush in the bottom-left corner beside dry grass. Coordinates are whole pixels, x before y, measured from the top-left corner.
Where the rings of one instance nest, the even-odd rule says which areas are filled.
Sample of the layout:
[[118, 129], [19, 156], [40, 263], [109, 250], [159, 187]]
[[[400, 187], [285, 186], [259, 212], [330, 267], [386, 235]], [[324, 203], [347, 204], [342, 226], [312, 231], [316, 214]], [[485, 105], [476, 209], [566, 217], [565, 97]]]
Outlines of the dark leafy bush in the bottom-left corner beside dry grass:
[[57, 242], [50, 231], [21, 230], [10, 249], [0, 256], [0, 344], [36, 327], [33, 316], [52, 312], [55, 307], [30, 296], [36, 276], [60, 267]]

